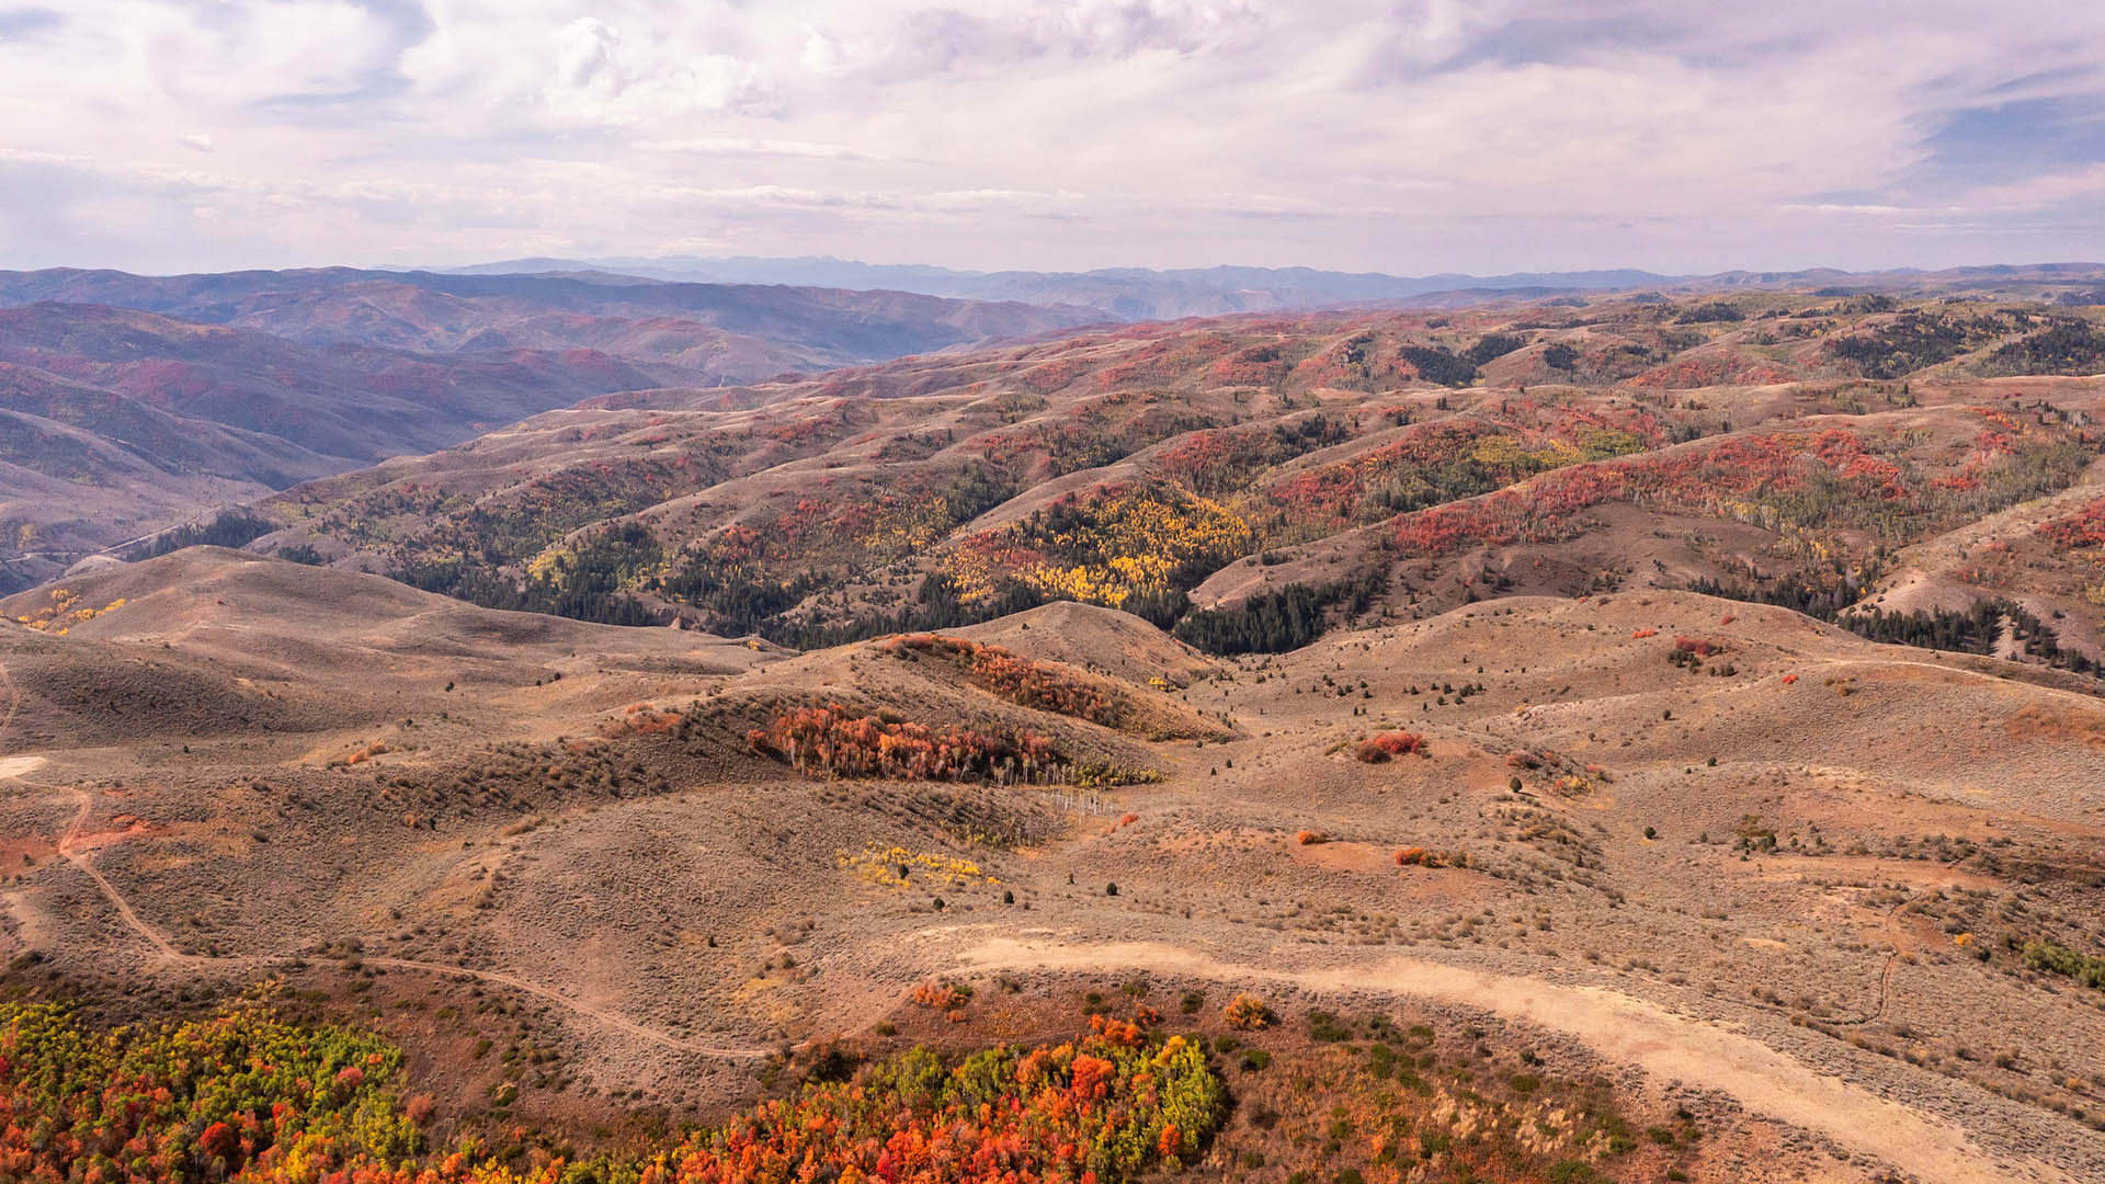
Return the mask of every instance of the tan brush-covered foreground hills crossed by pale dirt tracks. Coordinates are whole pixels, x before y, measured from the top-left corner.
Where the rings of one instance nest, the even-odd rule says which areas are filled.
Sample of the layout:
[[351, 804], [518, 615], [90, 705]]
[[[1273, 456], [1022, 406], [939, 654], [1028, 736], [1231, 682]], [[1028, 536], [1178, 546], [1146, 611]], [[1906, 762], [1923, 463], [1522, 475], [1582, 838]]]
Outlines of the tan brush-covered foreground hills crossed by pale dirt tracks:
[[0, 628], [0, 984], [272, 980], [486, 1146], [1092, 1013], [1204, 1039], [1212, 1150], [1267, 1182], [1341, 1110], [1408, 1112], [1412, 1169], [1513, 1138], [1524, 1184], [2105, 1152], [2105, 710], [2065, 672], [1684, 592], [1265, 657], [1059, 605], [770, 659], [219, 550], [67, 590], [65, 634]]

